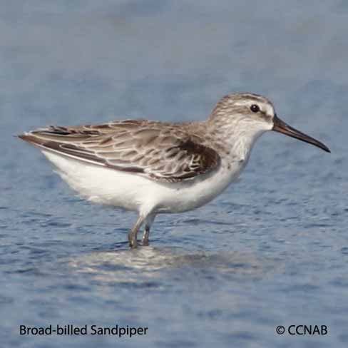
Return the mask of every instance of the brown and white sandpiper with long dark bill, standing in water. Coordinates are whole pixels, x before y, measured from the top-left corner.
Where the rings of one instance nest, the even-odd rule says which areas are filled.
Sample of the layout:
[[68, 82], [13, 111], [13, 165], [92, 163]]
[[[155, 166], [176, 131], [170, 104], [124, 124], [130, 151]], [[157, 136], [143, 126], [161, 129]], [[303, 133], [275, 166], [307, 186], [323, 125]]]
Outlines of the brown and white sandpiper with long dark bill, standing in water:
[[86, 200], [138, 213], [128, 232], [131, 248], [149, 245], [161, 213], [183, 213], [216, 198], [237, 179], [255, 141], [267, 131], [330, 152], [324, 143], [282, 121], [270, 100], [232, 93], [206, 121], [169, 123], [111, 121], [86, 126], [48, 126], [22, 133]]

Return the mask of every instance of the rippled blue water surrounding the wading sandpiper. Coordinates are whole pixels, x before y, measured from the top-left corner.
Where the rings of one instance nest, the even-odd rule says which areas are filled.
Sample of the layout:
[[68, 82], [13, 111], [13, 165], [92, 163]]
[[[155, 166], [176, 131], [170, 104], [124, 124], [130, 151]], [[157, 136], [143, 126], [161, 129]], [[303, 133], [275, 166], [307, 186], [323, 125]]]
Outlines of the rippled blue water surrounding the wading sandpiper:
[[[1, 1], [0, 346], [347, 347], [347, 30], [344, 0]], [[204, 119], [233, 91], [269, 97], [332, 154], [267, 133], [238, 183], [159, 216], [138, 250], [133, 213], [76, 198], [12, 136]], [[148, 333], [24, 337], [20, 324]]]

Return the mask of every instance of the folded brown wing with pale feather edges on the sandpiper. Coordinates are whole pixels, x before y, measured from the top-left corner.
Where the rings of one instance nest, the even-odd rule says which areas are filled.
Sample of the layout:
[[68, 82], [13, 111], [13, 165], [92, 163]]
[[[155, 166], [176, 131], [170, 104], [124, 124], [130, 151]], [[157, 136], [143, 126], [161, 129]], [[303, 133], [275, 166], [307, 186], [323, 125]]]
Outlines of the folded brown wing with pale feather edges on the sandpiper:
[[220, 164], [218, 153], [201, 138], [169, 123], [50, 126], [19, 137], [61, 155], [168, 183], [193, 179]]

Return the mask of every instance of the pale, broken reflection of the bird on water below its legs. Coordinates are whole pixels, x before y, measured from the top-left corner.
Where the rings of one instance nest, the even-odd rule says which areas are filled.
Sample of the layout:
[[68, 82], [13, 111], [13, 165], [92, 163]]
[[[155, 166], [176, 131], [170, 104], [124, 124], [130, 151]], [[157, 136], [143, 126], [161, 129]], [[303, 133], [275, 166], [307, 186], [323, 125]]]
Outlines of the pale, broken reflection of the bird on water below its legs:
[[[75, 272], [93, 275], [102, 282], [133, 284], [166, 278], [166, 272], [204, 272], [210, 275], [246, 275], [261, 277], [275, 270], [275, 262], [257, 260], [255, 255], [237, 252], [205, 252], [178, 247], [138, 247], [129, 250], [125, 244], [116, 250], [91, 252], [68, 262]], [[267, 271], [268, 270], [268, 271]]]

